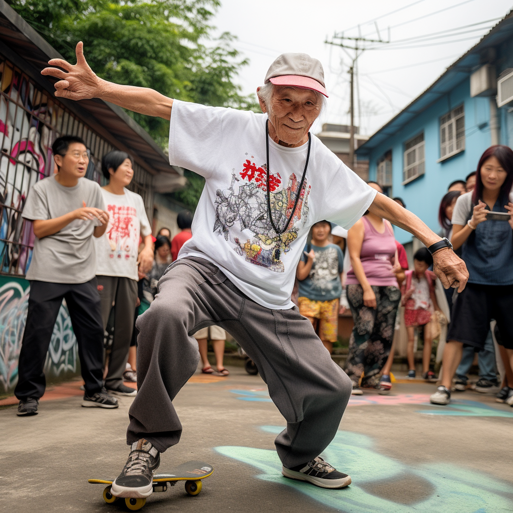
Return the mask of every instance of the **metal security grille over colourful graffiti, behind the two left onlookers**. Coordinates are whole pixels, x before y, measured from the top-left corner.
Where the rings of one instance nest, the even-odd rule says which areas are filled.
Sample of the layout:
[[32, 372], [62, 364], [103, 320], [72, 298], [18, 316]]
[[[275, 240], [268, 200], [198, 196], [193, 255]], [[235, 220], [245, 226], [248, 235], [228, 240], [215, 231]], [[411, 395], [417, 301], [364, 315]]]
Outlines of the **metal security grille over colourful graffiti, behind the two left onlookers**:
[[[35, 237], [22, 211], [30, 187], [54, 172], [51, 146], [61, 135], [84, 139], [91, 151], [86, 177], [102, 184], [102, 157], [113, 146], [0, 54], [0, 274], [28, 269]], [[150, 221], [151, 181], [134, 166], [130, 189], [143, 197]]]

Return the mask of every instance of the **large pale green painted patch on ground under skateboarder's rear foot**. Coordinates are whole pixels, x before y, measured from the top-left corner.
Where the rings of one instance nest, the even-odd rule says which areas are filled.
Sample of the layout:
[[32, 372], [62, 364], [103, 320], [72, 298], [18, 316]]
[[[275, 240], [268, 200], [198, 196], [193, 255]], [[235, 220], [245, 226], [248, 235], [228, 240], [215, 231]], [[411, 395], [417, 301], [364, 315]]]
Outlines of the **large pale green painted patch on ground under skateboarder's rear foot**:
[[[277, 435], [283, 428], [261, 429]], [[258, 468], [258, 479], [293, 488], [320, 505], [346, 513], [497, 513], [513, 509], [509, 482], [446, 462], [407, 465], [374, 449], [370, 437], [349, 431], [338, 431], [322, 455], [352, 477], [353, 483], [341, 490], [325, 490], [284, 478], [273, 450], [235, 446], [215, 450]]]

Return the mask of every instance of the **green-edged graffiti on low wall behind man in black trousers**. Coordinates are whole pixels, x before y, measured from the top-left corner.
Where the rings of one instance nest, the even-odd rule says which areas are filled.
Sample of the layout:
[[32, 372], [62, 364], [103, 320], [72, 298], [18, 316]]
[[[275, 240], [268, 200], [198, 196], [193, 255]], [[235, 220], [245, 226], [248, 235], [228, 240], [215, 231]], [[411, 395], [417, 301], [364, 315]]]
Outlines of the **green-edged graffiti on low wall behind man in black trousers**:
[[[12, 391], [17, 382], [29, 289], [29, 283], [21, 278], [0, 279], [0, 392]], [[63, 303], [53, 328], [45, 374], [51, 379], [52, 376], [74, 374], [76, 371], [76, 339], [68, 310]]]

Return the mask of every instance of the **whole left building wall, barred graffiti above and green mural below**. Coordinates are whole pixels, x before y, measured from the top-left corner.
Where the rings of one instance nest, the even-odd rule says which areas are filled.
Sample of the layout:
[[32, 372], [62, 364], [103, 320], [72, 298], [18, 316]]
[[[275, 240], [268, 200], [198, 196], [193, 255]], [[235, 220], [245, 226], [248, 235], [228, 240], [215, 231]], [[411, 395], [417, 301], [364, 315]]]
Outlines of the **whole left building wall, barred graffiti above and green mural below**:
[[[17, 381], [17, 359], [27, 312], [32, 223], [22, 218], [30, 187], [54, 172], [51, 145], [61, 135], [82, 137], [91, 151], [86, 177], [104, 181], [103, 155], [114, 149], [23, 70], [0, 54], [0, 392]], [[134, 166], [130, 189], [153, 214], [152, 175]], [[66, 304], [55, 324], [46, 370], [50, 381], [78, 370], [76, 339]]]

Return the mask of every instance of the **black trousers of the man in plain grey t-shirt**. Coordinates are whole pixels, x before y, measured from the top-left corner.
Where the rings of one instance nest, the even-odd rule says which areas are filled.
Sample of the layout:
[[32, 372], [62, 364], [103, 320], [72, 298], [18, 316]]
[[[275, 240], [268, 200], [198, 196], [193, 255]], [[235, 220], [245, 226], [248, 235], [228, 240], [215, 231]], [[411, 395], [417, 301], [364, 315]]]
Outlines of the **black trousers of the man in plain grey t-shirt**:
[[20, 400], [40, 398], [45, 393], [43, 368], [53, 326], [63, 299], [78, 342], [78, 357], [87, 394], [103, 387], [103, 323], [96, 278], [86, 283], [30, 282], [27, 322], [19, 352], [18, 383], [14, 395]]

